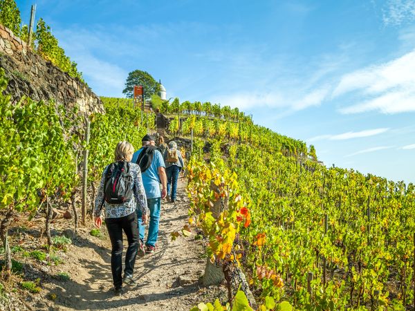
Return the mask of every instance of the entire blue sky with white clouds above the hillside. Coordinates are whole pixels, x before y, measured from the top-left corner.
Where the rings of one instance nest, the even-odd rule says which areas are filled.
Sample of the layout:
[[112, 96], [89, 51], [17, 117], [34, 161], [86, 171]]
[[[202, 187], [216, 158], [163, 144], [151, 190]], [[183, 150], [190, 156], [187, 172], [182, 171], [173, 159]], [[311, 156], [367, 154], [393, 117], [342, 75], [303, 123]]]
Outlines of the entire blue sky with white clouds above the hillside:
[[[28, 23], [30, 1], [17, 1]], [[415, 182], [415, 0], [37, 1], [98, 95], [130, 71], [314, 144], [327, 166]]]

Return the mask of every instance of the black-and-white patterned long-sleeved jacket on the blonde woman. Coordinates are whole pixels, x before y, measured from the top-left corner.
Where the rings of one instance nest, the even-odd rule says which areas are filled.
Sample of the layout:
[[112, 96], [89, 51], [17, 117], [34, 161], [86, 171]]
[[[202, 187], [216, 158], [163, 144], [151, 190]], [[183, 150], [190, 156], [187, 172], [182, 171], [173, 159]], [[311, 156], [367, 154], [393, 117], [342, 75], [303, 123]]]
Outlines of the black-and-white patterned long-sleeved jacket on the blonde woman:
[[[129, 214], [136, 211], [137, 208], [141, 210], [141, 213], [147, 213], [147, 197], [145, 196], [144, 186], [142, 185], [142, 178], [141, 178], [141, 171], [138, 164], [130, 163], [130, 171], [131, 176], [134, 180], [133, 186], [133, 194], [134, 197], [131, 198], [128, 202], [124, 204], [109, 204], [104, 200], [104, 182], [105, 182], [105, 174], [107, 173], [109, 165], [105, 167], [104, 171], [102, 172], [102, 178], [100, 182], [100, 188], [98, 189], [97, 197], [95, 198], [95, 208], [93, 211], [93, 216], [100, 217], [101, 211], [104, 209], [105, 211], [105, 218], [120, 218], [124, 216], [128, 216]], [[103, 204], [103, 207], [102, 207]], [[102, 207], [102, 208], [101, 208]]]

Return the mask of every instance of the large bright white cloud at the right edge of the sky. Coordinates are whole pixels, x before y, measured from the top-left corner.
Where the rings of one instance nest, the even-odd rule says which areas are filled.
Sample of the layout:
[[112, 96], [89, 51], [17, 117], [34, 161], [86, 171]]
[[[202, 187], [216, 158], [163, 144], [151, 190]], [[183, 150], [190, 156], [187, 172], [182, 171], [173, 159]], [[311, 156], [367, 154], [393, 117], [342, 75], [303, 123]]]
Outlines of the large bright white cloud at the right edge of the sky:
[[340, 113], [403, 113], [415, 111], [415, 50], [397, 59], [344, 75], [333, 97], [355, 93], [365, 100]]

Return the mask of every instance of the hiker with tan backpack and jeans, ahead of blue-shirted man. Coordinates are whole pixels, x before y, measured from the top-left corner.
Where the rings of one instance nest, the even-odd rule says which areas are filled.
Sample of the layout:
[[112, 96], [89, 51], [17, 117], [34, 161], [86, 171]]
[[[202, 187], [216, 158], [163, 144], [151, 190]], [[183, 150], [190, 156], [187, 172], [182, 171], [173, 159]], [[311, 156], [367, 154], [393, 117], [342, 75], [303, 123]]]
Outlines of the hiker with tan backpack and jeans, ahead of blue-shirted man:
[[166, 164], [167, 175], [167, 196], [170, 194], [170, 188], [172, 193], [170, 194], [170, 202], [176, 202], [176, 190], [178, 173], [185, 167], [181, 152], [177, 149], [176, 142], [169, 142], [169, 149], [164, 153], [164, 160]]

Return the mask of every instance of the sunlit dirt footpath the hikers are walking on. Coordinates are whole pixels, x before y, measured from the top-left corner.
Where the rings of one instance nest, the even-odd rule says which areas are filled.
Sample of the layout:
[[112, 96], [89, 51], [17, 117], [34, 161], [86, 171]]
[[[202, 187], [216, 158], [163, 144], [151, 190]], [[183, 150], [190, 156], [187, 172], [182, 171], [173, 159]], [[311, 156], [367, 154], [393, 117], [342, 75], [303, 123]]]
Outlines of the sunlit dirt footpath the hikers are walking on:
[[158, 249], [154, 254], [137, 258], [138, 285], [122, 296], [115, 296], [112, 290], [107, 229], [102, 229], [101, 238], [89, 236], [88, 229], [84, 229], [84, 234], [80, 234], [84, 238], [77, 238], [64, 258], [65, 264], [59, 266], [71, 279], [52, 279], [43, 285], [46, 296], [54, 297], [46, 310], [190, 310], [199, 302], [219, 295], [220, 289], [199, 285], [206, 259], [201, 241], [194, 240], [194, 232], [187, 238], [171, 241], [170, 233], [187, 223], [187, 208], [185, 185], [180, 180], [178, 201], [162, 205]]

